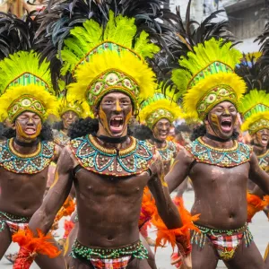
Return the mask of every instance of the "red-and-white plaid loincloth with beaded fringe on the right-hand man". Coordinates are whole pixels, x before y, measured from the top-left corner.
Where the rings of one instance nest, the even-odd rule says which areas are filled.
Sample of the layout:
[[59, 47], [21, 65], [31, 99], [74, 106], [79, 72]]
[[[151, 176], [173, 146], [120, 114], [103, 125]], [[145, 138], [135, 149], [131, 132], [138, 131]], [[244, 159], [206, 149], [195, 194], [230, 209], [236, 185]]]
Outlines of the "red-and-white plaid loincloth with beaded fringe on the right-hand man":
[[235, 251], [243, 239], [245, 239], [246, 247], [249, 247], [253, 241], [247, 223], [236, 230], [218, 230], [200, 225], [195, 226], [200, 230], [200, 233], [193, 232], [191, 243], [202, 248], [205, 241], [209, 240], [217, 250], [219, 258], [224, 261], [228, 261], [235, 256]]

